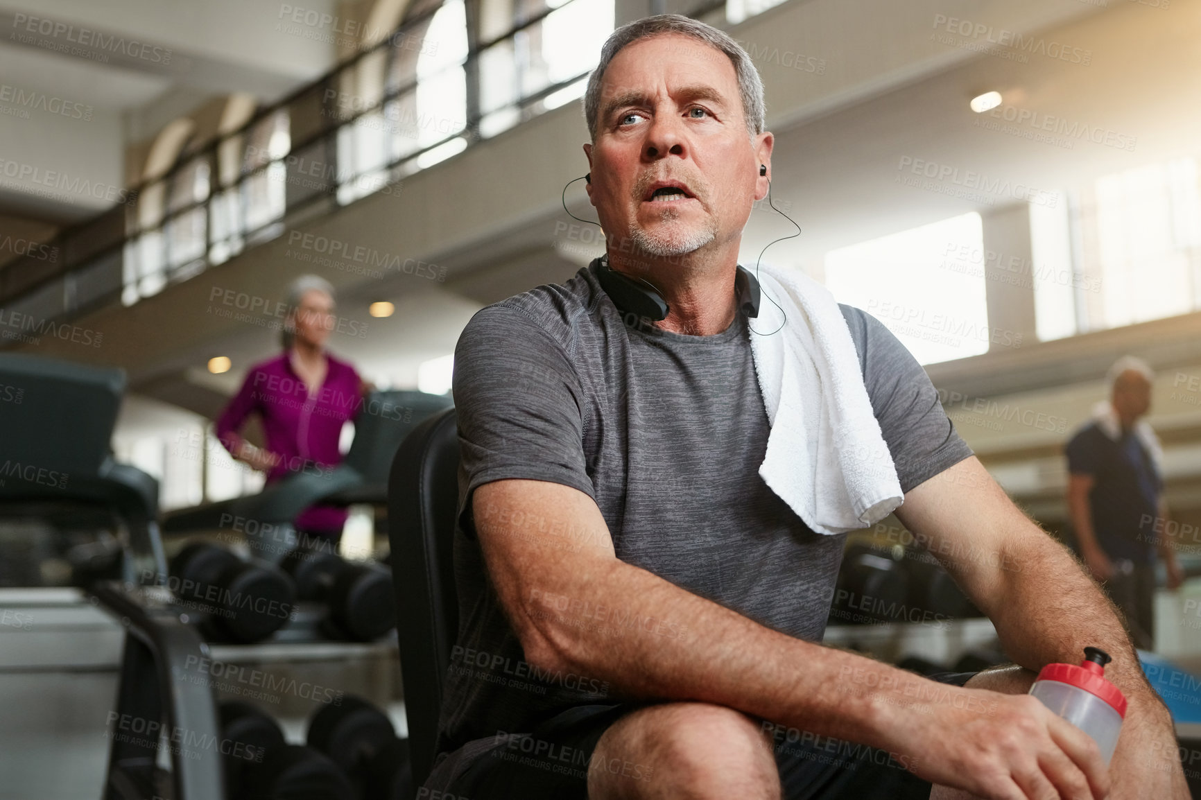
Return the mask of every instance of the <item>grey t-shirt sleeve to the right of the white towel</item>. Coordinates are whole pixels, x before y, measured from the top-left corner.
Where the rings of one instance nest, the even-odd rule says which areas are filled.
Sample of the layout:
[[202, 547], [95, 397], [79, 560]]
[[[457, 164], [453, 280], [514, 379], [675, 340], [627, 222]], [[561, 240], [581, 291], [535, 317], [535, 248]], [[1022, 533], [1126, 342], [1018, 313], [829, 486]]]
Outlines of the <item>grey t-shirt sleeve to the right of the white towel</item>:
[[892, 455], [901, 491], [908, 492], [973, 455], [943, 411], [938, 389], [901, 340], [860, 309], [852, 310], [848, 326], [853, 334], [859, 334], [853, 339], [862, 342], [864, 383]]

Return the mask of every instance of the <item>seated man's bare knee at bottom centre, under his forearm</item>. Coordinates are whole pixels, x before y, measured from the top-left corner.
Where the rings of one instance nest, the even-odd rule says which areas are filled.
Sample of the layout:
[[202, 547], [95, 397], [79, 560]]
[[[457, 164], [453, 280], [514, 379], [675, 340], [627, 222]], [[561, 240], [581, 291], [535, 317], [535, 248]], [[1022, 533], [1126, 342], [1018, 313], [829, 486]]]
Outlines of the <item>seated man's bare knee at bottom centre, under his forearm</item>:
[[613, 764], [687, 796], [779, 796], [775, 756], [760, 727], [740, 711], [707, 703], [640, 709], [602, 736], [588, 768], [590, 798], [599, 784], [622, 790], [596, 796], [641, 796], [639, 786], [609, 769]]

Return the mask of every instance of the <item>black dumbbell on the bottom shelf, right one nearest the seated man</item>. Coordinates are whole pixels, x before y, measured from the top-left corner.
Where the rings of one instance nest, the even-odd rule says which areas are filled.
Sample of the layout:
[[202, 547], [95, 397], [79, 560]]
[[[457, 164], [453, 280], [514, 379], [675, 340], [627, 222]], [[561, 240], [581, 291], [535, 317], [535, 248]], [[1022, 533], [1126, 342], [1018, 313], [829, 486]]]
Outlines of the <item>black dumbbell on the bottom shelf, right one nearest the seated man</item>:
[[408, 741], [396, 738], [387, 714], [360, 697], [347, 694], [341, 705], [318, 709], [307, 742], [342, 769], [359, 800], [393, 800], [412, 787]]

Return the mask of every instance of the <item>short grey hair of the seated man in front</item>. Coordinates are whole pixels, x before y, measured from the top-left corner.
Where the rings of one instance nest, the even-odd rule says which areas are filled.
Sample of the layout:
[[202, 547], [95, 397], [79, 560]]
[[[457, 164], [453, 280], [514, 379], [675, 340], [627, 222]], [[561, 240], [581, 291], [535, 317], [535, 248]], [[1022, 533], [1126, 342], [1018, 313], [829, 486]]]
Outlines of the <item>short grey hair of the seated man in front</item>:
[[622, 25], [605, 40], [600, 48], [600, 62], [588, 76], [588, 88], [584, 92], [584, 117], [588, 123], [588, 135], [592, 143], [597, 141], [597, 115], [600, 113], [600, 80], [614, 56], [627, 44], [632, 44], [641, 38], [662, 36], [664, 34], [683, 34], [713, 47], [729, 56], [734, 64], [734, 72], [739, 79], [739, 94], [742, 96], [742, 115], [747, 123], [747, 136], [754, 138], [763, 133], [766, 112], [763, 101], [763, 79], [755, 70], [742, 46], [734, 41], [729, 34], [718, 30], [712, 25], [683, 17], [681, 14], [658, 14], [637, 19], [627, 25]]

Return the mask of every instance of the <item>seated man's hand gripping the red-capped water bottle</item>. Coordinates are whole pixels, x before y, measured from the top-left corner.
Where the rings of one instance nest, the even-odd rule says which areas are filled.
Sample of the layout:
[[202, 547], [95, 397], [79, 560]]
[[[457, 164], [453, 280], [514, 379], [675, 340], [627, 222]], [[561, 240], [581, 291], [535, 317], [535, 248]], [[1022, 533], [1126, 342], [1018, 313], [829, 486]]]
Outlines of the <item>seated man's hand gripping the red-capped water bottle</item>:
[[1036, 698], [950, 691], [931, 714], [909, 716], [898, 751], [912, 756], [919, 777], [993, 800], [1109, 794], [1110, 774], [1097, 742]]

